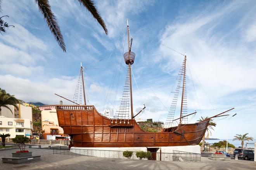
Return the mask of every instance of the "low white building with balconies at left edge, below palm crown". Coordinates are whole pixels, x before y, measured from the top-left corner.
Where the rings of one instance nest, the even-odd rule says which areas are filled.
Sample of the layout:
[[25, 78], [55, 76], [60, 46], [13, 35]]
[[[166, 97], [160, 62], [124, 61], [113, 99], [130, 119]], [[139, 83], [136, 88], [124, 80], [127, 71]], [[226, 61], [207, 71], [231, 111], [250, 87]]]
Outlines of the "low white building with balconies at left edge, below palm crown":
[[0, 116], [0, 133], [10, 134], [10, 138], [15, 138], [16, 135], [23, 135], [30, 138], [33, 123], [30, 119], [16, 119], [5, 116]]

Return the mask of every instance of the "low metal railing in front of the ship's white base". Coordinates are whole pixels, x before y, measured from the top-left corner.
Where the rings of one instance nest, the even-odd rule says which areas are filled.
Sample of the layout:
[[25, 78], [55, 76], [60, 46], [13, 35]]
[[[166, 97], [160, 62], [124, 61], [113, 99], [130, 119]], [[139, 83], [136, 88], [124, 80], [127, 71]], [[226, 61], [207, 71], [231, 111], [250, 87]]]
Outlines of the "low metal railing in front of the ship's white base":
[[[123, 156], [124, 151], [113, 151], [113, 150], [92, 150], [92, 149], [54, 149], [53, 154], [59, 155], [73, 155], [73, 156], [95, 156], [101, 158], [117, 158], [117, 159], [128, 159]], [[129, 158], [131, 160], [139, 160], [136, 156], [138, 151], [132, 151], [132, 156]], [[148, 160], [147, 158], [142, 158], [142, 160]], [[173, 150], [173, 153], [160, 153], [151, 152], [150, 160], [158, 161], [180, 161], [180, 162], [201, 162], [200, 153], [190, 153], [183, 151]]]

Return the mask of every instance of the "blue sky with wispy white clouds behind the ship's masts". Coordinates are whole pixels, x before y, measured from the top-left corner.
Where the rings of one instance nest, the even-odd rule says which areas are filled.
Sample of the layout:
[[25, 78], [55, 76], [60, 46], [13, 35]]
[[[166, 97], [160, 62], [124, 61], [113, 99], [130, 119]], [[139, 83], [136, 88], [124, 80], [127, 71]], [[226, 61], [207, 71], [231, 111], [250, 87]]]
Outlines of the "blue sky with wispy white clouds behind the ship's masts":
[[88, 104], [100, 112], [116, 108], [125, 81], [129, 19], [138, 85], [133, 83], [134, 110], [143, 103], [147, 107], [141, 118], [166, 119], [183, 61], [175, 49], [187, 53], [188, 112], [198, 111], [190, 122], [235, 107], [232, 119], [214, 119], [212, 137], [249, 133], [256, 138], [254, 1], [95, 1], [107, 36], [77, 1], [50, 4], [67, 53], [55, 42], [33, 0], [2, 2], [1, 15], [9, 15], [5, 20], [15, 26], [0, 36], [0, 87], [7, 92], [27, 102], [58, 104], [53, 93], [73, 98], [82, 62], [88, 68]]

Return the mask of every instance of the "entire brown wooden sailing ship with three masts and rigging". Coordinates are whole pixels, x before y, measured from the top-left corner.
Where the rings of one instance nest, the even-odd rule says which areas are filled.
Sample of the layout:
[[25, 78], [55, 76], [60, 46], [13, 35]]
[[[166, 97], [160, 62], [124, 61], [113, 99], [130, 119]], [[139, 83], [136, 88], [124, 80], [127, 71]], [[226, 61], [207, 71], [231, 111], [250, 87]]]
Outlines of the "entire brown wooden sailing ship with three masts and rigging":
[[[71, 138], [69, 147], [159, 147], [198, 145], [206, 132], [210, 119], [218, 117], [229, 110], [194, 124], [182, 123], [182, 119], [196, 113], [185, 114], [185, 56], [180, 71], [181, 77], [183, 77], [183, 86], [178, 126], [165, 127], [161, 132], [143, 131], [134, 119], [140, 112], [142, 112], [142, 110], [133, 116], [131, 65], [134, 63], [135, 53], [131, 51], [132, 38], [130, 41], [128, 21], [127, 33], [128, 51], [123, 55], [123, 57], [126, 65], [128, 65], [128, 74], [125, 81], [126, 83], [124, 86], [121, 105], [117, 111], [118, 116], [114, 119], [109, 119], [100, 114], [95, 109], [94, 105], [86, 105], [85, 92], [83, 93], [84, 105], [79, 105], [76, 102], [74, 103], [77, 105], [56, 105], [59, 126], [63, 128], [64, 134], [68, 134]], [[84, 89], [82, 66], [80, 74]], [[178, 88], [180, 88], [180, 84], [181, 81], [178, 83]], [[168, 114], [168, 119], [166, 121], [167, 125], [171, 125], [173, 121], [178, 120], [173, 119], [172, 115], [173, 110], [175, 110], [173, 107], [177, 103], [176, 92], [177, 90], [175, 91], [175, 97]], [[130, 116], [128, 118], [126, 116], [127, 107], [130, 107]]]

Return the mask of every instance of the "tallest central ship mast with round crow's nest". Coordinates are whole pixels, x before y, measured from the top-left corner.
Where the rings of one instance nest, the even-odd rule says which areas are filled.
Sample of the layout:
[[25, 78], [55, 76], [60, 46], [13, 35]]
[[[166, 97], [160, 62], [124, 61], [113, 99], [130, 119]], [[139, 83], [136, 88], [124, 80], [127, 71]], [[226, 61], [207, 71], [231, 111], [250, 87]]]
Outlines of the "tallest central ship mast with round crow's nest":
[[133, 119], [133, 103], [132, 103], [132, 87], [131, 87], [131, 65], [134, 62], [135, 53], [131, 52], [131, 44], [132, 38], [130, 43], [130, 30], [129, 30], [129, 23], [127, 19], [127, 35], [128, 35], [128, 52], [124, 54], [125, 63], [128, 65], [129, 68], [129, 80], [130, 80], [130, 97], [131, 97], [131, 119]]

